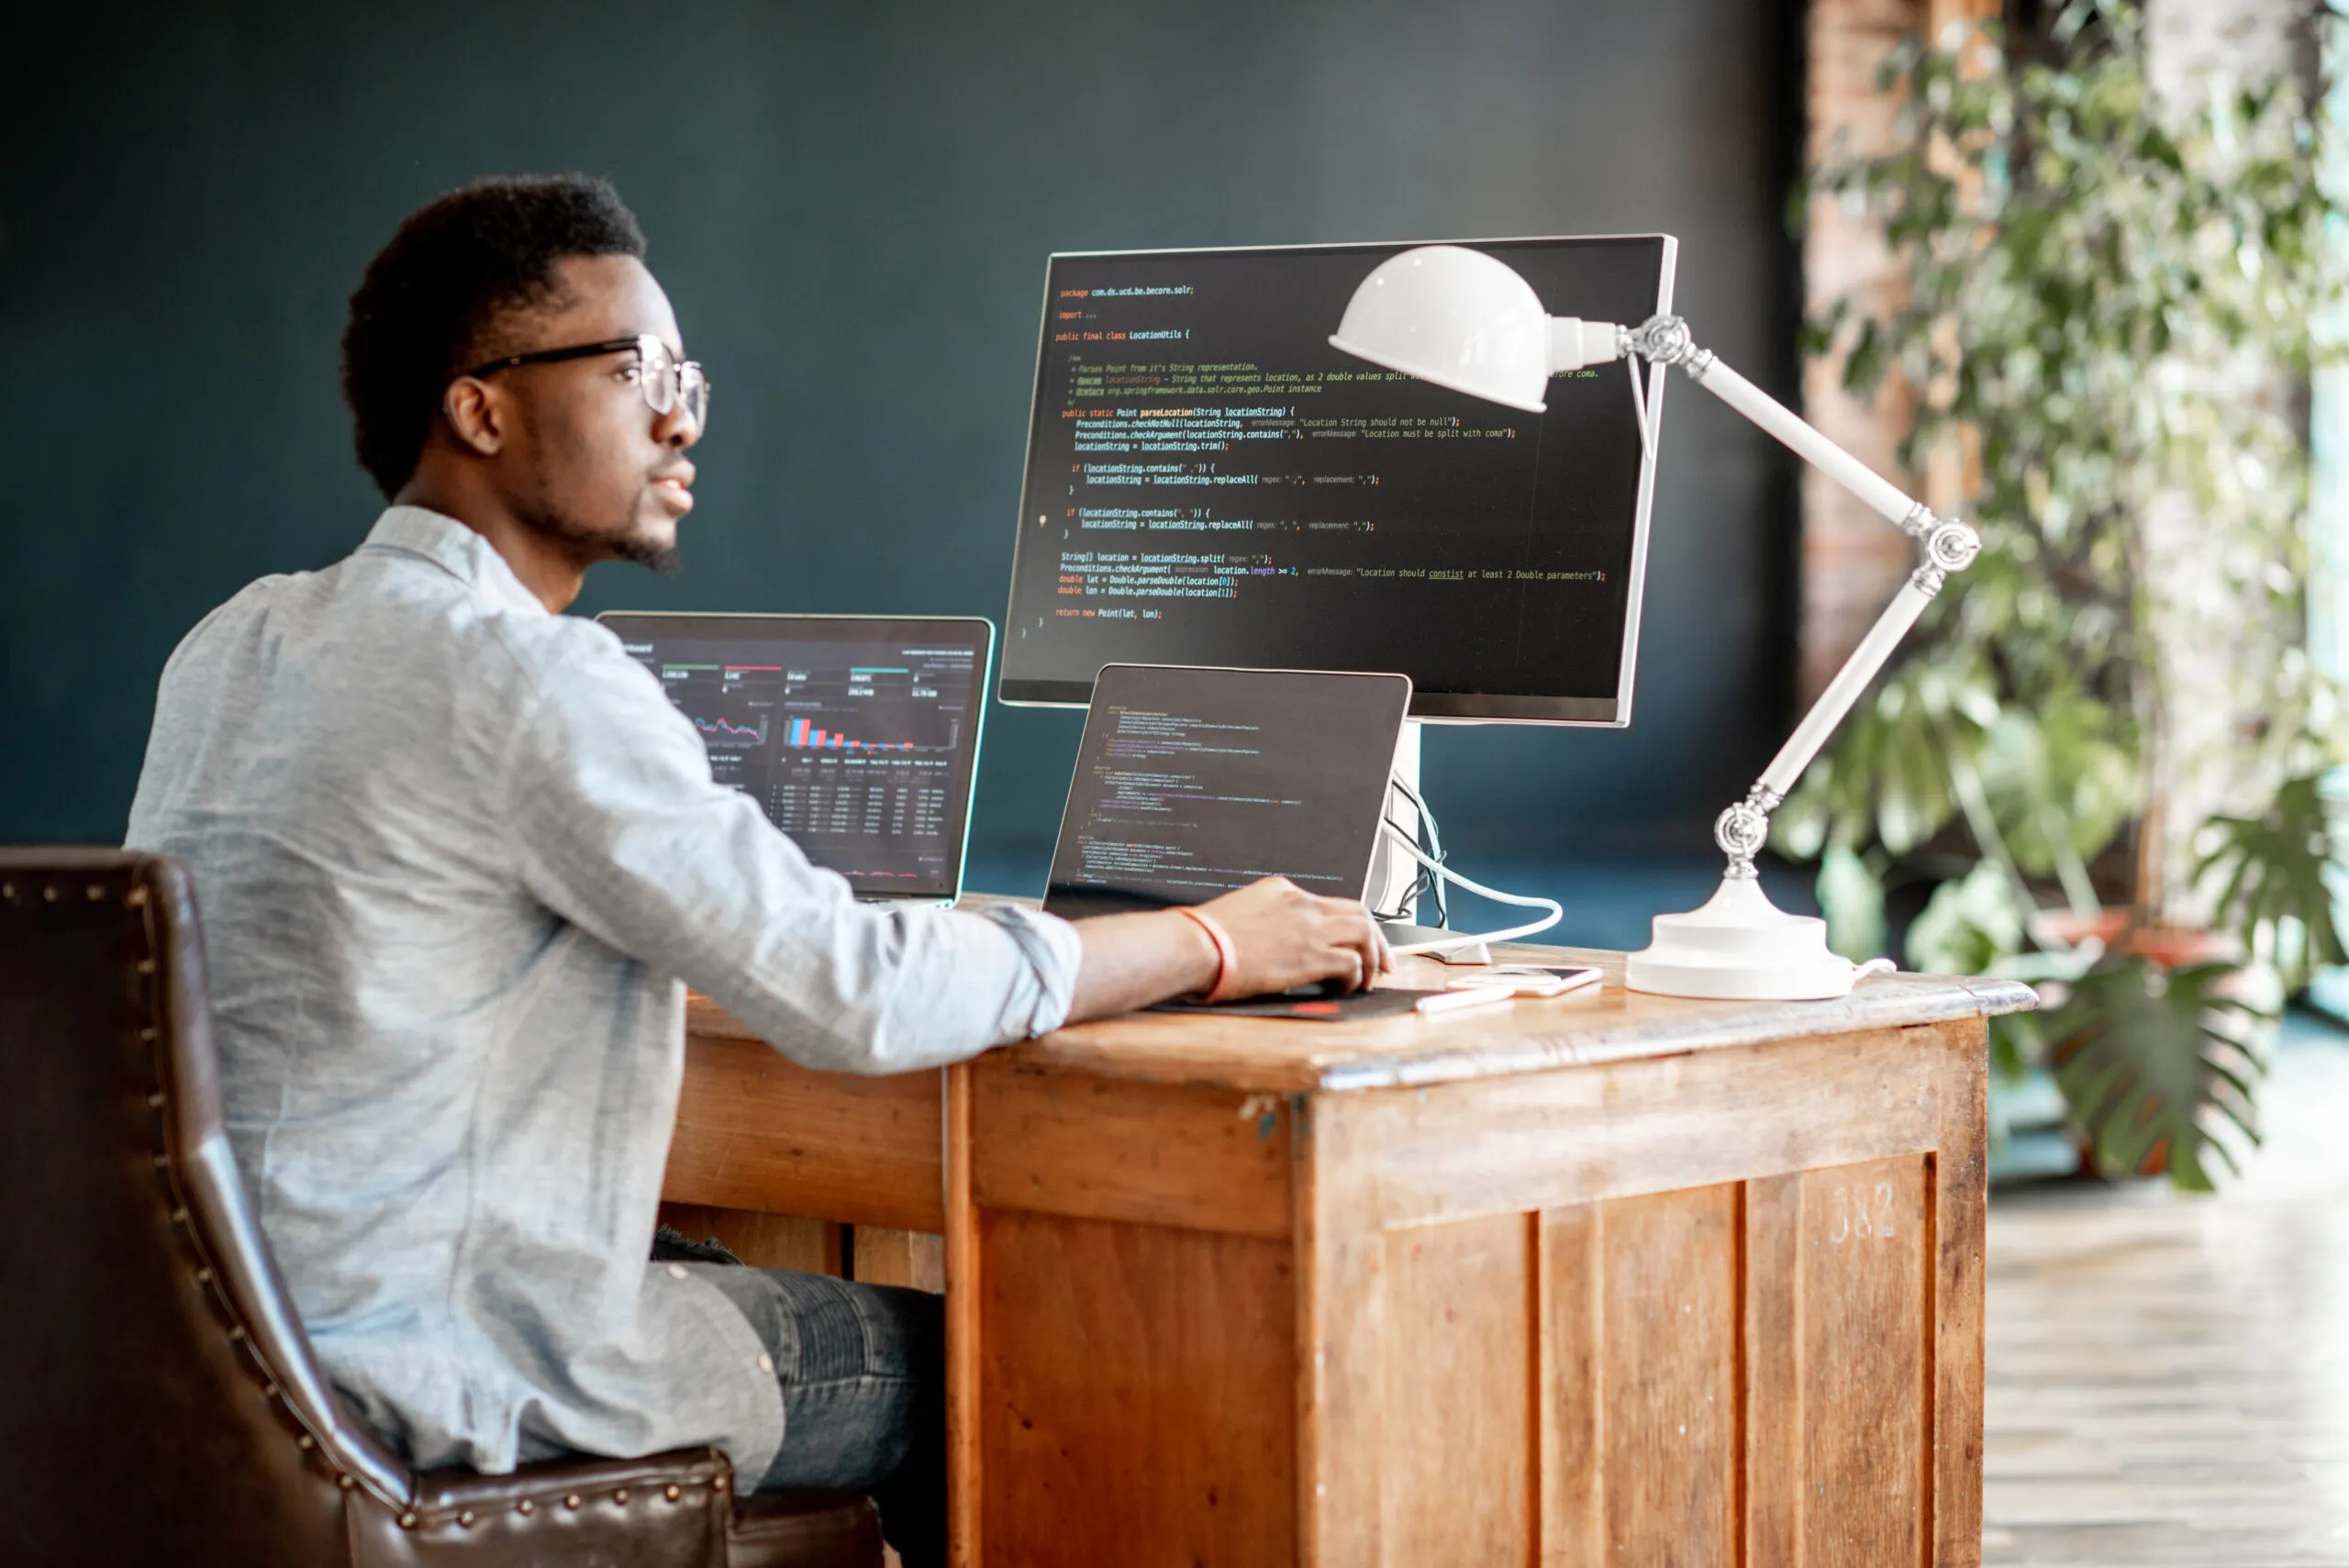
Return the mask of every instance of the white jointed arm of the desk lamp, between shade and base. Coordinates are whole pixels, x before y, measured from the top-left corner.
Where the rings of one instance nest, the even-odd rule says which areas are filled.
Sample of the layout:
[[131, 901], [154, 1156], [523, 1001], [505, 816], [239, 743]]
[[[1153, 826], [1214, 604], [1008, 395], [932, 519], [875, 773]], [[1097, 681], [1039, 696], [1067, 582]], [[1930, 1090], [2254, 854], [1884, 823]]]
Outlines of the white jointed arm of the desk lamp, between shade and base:
[[[1917, 570], [1900, 584], [1893, 601], [1884, 606], [1877, 624], [1867, 629], [1860, 646], [1853, 648], [1851, 657], [1844, 660], [1844, 667], [1835, 671], [1835, 678], [1828, 681], [1828, 690], [1818, 695], [1811, 711], [1804, 714], [1802, 723], [1795, 725], [1795, 732], [1785, 737], [1785, 744], [1778, 746], [1778, 756], [1773, 756], [1769, 768], [1762, 770], [1755, 786], [1745, 791], [1745, 798], [1722, 812], [1712, 824], [1712, 840], [1722, 847], [1722, 854], [1729, 857], [1729, 878], [1752, 880], [1755, 854], [1759, 854], [1762, 845], [1769, 843], [1769, 815], [1778, 810], [1788, 793], [1792, 793], [1804, 768], [1809, 768], [1811, 758], [1816, 758], [1820, 746], [1828, 744], [1835, 728], [1844, 723], [1844, 716], [1851, 714], [1860, 692], [1865, 692], [1867, 683], [1877, 678], [1877, 671], [1884, 669], [1886, 660], [1891, 660], [1893, 648], [1898, 648], [1907, 629], [1917, 624], [1924, 608], [1933, 603], [1933, 596], [1940, 592], [1947, 575], [1966, 570], [1973, 563], [1973, 556], [1983, 549], [1983, 540], [1973, 528], [1957, 519], [1933, 516], [1924, 502], [1910, 500], [1898, 486], [1823, 437], [1792, 408], [1715, 359], [1710, 350], [1696, 347], [1689, 338], [1689, 324], [1680, 317], [1651, 317], [1640, 326], [1614, 326], [1611, 331], [1614, 352], [1607, 354], [1607, 324], [1553, 317], [1553, 369], [1579, 369], [1581, 364], [1593, 364], [1600, 357], [1647, 359], [1654, 366], [1677, 366], [1689, 380], [1773, 434], [1797, 458], [1828, 474], [1828, 479], [1867, 502], [1867, 507], [1884, 521], [1917, 540]], [[1600, 340], [1593, 343], [1593, 338]]]

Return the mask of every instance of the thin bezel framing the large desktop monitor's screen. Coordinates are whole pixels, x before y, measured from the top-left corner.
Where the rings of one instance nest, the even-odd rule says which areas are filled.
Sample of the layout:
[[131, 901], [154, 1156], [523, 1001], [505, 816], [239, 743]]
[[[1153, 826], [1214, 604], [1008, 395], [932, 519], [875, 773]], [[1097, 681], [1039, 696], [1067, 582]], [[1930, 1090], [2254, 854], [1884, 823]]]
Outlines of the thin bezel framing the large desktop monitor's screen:
[[[1027, 481], [1036, 458], [1036, 399], [1043, 392], [1045, 357], [1052, 347], [1052, 268], [1062, 261], [1146, 261], [1153, 256], [1285, 256], [1297, 251], [1407, 251], [1421, 244], [1621, 244], [1651, 239], [1663, 244], [1663, 261], [1656, 279], [1656, 315], [1672, 310], [1672, 279], [1680, 268], [1680, 239], [1675, 235], [1506, 235], [1487, 239], [1348, 239], [1339, 244], [1198, 244], [1151, 251], [1052, 251], [1043, 270], [1043, 305], [1036, 324], [1036, 376], [1029, 383], [1029, 432], [1019, 451], [1019, 512], [1012, 519], [1012, 577], [1003, 599], [1003, 624], [1012, 624], [1012, 596], [1019, 592], [1019, 554], [1027, 549], [1027, 533], [1019, 519], [1027, 516]], [[1332, 322], [1334, 326], [1334, 322]], [[1623, 730], [1630, 725], [1633, 688], [1640, 669], [1640, 610], [1647, 601], [1647, 538], [1649, 516], [1656, 500], [1656, 448], [1663, 441], [1663, 383], [1651, 373], [1647, 380], [1647, 427], [1649, 444], [1640, 453], [1637, 505], [1633, 509], [1628, 599], [1623, 613], [1623, 650], [1616, 660], [1614, 697], [1534, 697], [1525, 692], [1428, 692], [1412, 683], [1409, 721], [1419, 723], [1525, 723], [1569, 725], [1581, 730]], [[1008, 650], [1008, 643], [1005, 643]], [[1104, 664], [1128, 664], [1132, 660], [1104, 660]], [[1379, 674], [1379, 671], [1362, 671]], [[1015, 681], [996, 667], [996, 702], [1024, 709], [1083, 709], [1092, 702], [1092, 681]]]

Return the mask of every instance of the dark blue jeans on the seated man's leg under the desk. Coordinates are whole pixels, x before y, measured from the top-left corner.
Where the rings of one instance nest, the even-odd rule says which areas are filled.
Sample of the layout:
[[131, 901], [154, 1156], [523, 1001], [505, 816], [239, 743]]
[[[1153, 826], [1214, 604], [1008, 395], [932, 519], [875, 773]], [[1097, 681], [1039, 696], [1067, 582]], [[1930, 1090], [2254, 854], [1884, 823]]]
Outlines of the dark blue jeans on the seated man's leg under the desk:
[[688, 1263], [726, 1293], [782, 1385], [768, 1486], [869, 1493], [904, 1568], [947, 1561], [947, 1312], [928, 1291]]

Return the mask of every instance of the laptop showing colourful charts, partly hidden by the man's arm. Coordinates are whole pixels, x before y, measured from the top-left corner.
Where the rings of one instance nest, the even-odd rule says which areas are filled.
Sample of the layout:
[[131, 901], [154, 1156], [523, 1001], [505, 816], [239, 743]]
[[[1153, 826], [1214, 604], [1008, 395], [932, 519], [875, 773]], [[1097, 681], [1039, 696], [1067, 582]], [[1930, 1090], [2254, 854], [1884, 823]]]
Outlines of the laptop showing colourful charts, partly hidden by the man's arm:
[[954, 904], [996, 629], [975, 615], [651, 615], [618, 634], [801, 852], [876, 904]]

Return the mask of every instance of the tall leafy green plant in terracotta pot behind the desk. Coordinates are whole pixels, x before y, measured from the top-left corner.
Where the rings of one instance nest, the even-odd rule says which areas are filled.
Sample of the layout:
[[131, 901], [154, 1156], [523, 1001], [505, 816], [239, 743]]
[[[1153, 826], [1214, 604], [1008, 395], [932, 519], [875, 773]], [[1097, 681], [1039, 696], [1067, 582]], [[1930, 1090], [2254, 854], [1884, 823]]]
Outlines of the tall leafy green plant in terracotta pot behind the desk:
[[[1907, 293], [1811, 322], [1806, 347], [1853, 390], [1917, 390], [1903, 458], [1961, 444], [1985, 547], [1773, 843], [1820, 861], [1849, 955], [1884, 941], [1889, 890], [1931, 885], [1914, 967], [2046, 984], [2046, 1012], [1994, 1028], [1999, 1080], [2053, 1075], [2098, 1169], [2208, 1188], [2255, 1141], [2248, 1026], [2342, 955], [2307, 458], [2288, 399], [2257, 392], [2307, 371], [2342, 298], [2326, 127], [2288, 80], [2161, 103], [2121, 0], [2072, 0], [2030, 56], [1994, 26], [1912, 40], [1882, 87], [1896, 146], [1837, 150], [1802, 200], [1865, 214]], [[2170, 782], [2210, 742], [2175, 683], [2201, 657], [2257, 723], [2220, 737], [2227, 810], [2180, 871]]]

